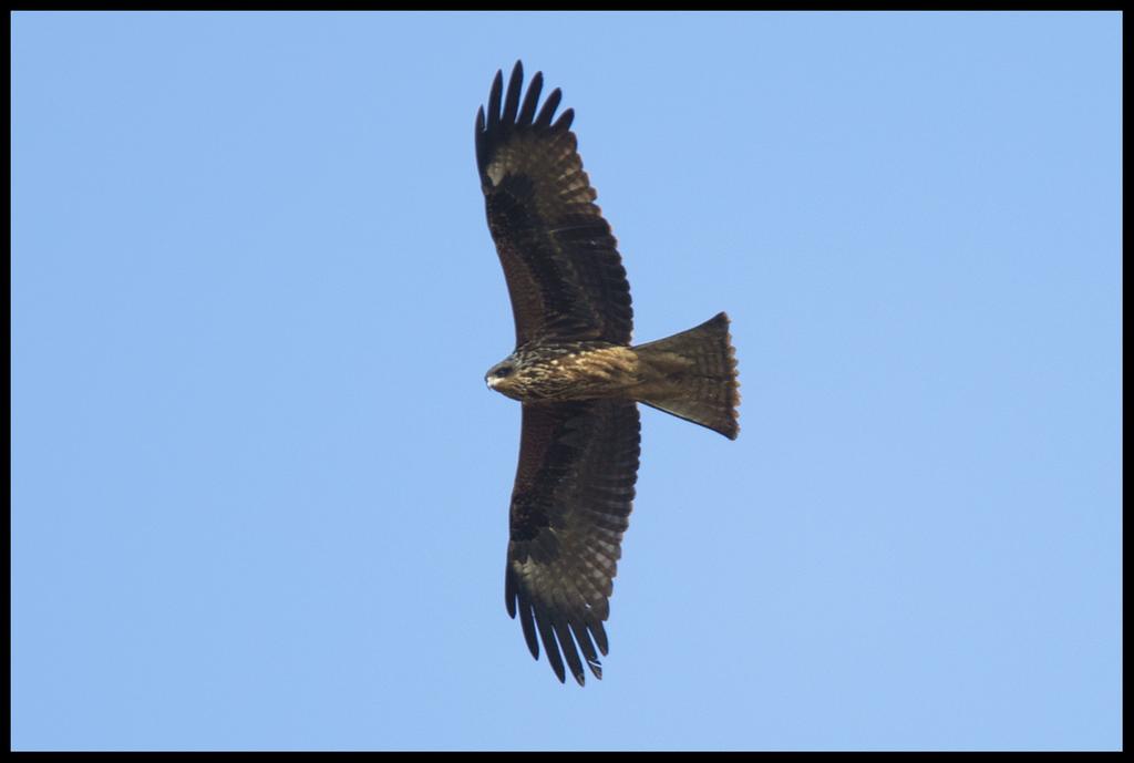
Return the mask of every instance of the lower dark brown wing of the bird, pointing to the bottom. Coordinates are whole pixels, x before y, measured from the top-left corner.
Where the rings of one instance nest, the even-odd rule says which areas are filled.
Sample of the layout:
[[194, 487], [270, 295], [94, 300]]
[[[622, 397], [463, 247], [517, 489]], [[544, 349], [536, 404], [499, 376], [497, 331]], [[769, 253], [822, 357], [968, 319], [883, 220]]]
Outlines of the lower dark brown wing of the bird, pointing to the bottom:
[[579, 652], [602, 678], [598, 652], [607, 654], [602, 624], [629, 526], [638, 431], [632, 401], [524, 406], [505, 602], [508, 614], [519, 612], [532, 656], [542, 642], [560, 681], [566, 659], [583, 685]]

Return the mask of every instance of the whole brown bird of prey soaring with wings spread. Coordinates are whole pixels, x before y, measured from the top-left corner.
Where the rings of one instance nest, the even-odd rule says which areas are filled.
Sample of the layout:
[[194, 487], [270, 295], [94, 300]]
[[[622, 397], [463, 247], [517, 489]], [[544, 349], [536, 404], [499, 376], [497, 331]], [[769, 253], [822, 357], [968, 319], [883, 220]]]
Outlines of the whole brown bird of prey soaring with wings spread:
[[523, 80], [519, 61], [507, 91], [497, 71], [476, 115], [476, 167], [516, 322], [515, 351], [485, 381], [523, 402], [505, 602], [532, 656], [542, 642], [560, 683], [566, 661], [582, 686], [583, 661], [602, 678], [608, 650], [603, 622], [637, 478], [637, 404], [735, 440], [736, 357], [725, 313], [631, 346], [629, 283], [576, 151], [574, 111], [555, 118], [558, 88], [541, 107], [542, 73], [526, 94]]

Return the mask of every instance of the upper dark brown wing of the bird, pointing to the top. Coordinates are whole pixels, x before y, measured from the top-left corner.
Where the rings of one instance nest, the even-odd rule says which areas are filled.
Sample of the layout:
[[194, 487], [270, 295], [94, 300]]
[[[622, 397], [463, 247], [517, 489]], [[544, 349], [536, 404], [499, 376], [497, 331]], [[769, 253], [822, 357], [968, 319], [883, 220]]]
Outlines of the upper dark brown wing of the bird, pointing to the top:
[[574, 111], [551, 121], [555, 90], [536, 113], [543, 75], [521, 103], [519, 61], [503, 96], [497, 71], [488, 117], [476, 113], [476, 166], [516, 320], [516, 346], [532, 339], [602, 339], [628, 345], [631, 287], [610, 226], [570, 132]]

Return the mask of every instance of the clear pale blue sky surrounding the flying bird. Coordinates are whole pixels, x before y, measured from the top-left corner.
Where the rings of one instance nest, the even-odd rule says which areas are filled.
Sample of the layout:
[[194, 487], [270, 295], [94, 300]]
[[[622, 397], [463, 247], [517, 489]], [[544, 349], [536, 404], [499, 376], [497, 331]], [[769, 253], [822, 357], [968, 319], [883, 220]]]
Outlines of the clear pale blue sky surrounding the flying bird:
[[[1116, 748], [1120, 17], [12, 17], [11, 744]], [[564, 90], [643, 409], [604, 679], [503, 607], [473, 121]]]

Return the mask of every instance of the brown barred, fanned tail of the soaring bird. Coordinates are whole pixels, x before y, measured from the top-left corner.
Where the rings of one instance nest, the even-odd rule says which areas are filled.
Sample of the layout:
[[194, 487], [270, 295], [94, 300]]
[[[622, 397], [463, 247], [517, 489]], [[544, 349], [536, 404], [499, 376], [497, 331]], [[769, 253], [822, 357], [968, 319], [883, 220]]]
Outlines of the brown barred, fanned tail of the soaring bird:
[[741, 431], [736, 350], [728, 315], [634, 348], [646, 372], [638, 401], [735, 440]]

